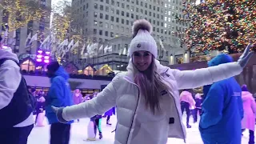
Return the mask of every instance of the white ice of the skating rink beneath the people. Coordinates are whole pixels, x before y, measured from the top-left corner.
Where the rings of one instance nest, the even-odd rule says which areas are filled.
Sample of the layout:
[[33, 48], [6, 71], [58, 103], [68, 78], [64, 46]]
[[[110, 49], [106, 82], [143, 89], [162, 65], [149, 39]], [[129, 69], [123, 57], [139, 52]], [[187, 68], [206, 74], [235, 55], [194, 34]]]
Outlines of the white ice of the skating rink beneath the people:
[[[186, 120], [186, 114], [184, 114], [184, 122]], [[50, 126], [47, 125], [47, 120], [45, 120], [46, 126], [44, 127], [34, 127], [32, 130], [28, 144], [48, 144], [49, 143], [49, 133]], [[113, 126], [106, 126], [106, 118], [102, 118], [102, 132], [103, 139], [87, 142], [85, 141], [87, 135], [87, 124], [90, 121], [89, 118], [81, 119], [80, 122], [74, 122], [71, 127], [71, 136], [70, 136], [70, 144], [84, 144], [84, 143], [95, 143], [95, 144], [111, 144], [114, 142], [114, 133], [111, 133], [115, 128], [116, 118], [115, 116], [110, 118], [110, 121], [114, 124]], [[192, 122], [192, 118], [190, 120]], [[200, 134], [198, 131], [198, 123], [191, 124], [192, 128], [187, 130], [187, 144], [202, 144], [202, 140], [200, 138]], [[248, 143], [249, 135], [246, 131], [244, 136], [242, 137], [242, 144]], [[175, 143], [175, 144], [183, 144], [184, 142], [180, 139], [169, 138], [167, 144]]]

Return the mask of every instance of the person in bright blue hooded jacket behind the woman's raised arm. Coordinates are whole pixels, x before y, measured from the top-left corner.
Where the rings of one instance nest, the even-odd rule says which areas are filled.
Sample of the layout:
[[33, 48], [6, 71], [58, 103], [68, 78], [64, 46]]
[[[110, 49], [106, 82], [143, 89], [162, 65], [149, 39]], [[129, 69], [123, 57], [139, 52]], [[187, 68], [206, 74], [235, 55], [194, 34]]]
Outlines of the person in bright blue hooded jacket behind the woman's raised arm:
[[[233, 62], [227, 54], [220, 54], [208, 62], [218, 66]], [[199, 130], [204, 144], [241, 144], [243, 118], [242, 90], [234, 78], [205, 86]]]

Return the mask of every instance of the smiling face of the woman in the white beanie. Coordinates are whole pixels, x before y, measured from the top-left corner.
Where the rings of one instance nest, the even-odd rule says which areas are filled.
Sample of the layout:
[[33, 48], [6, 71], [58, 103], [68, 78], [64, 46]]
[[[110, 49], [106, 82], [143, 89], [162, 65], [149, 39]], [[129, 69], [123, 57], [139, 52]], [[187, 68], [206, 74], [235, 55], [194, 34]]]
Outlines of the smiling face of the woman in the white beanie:
[[150, 64], [152, 62], [152, 54], [148, 51], [140, 50], [135, 51], [133, 54], [133, 63], [134, 66], [139, 71], [145, 71], [150, 67]]

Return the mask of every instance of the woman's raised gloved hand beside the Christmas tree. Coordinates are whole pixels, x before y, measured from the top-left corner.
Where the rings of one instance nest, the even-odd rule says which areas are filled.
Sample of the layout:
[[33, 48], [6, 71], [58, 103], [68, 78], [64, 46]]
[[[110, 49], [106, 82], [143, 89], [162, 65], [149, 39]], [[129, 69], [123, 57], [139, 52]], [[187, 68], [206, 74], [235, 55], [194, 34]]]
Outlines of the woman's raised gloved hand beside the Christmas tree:
[[251, 56], [254, 55], [254, 51], [250, 51], [250, 46], [251, 46], [251, 44], [246, 46], [246, 50], [242, 53], [242, 55], [238, 59], [238, 64], [242, 68], [244, 68], [246, 66], [246, 64], [247, 64], [247, 62], [249, 62]]

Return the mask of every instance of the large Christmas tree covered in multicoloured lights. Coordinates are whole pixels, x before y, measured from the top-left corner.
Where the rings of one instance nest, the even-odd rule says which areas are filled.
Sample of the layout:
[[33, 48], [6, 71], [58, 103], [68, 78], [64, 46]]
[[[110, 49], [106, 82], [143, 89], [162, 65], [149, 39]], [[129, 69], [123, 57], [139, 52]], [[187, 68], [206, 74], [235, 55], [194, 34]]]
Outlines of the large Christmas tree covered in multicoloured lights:
[[256, 0], [206, 0], [183, 2], [189, 22], [183, 42], [187, 48], [203, 54], [211, 50], [241, 52], [251, 42], [256, 44]]

